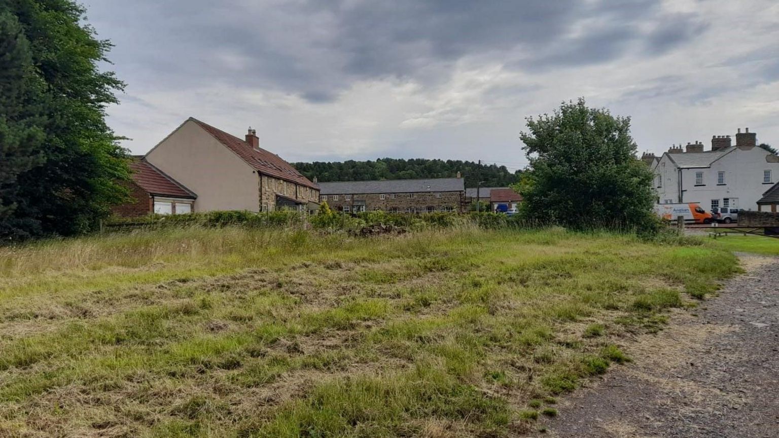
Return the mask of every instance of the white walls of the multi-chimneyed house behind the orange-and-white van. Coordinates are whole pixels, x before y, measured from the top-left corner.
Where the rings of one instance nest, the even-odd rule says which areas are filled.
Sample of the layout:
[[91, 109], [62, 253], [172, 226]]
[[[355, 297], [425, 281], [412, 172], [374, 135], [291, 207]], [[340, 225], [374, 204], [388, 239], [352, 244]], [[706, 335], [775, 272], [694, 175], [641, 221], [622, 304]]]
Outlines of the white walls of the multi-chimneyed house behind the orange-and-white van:
[[[708, 168], [683, 168], [679, 199], [680, 172], [669, 155], [663, 154], [654, 166], [660, 203], [696, 202], [704, 210], [711, 210], [712, 207], [757, 210], [757, 200], [779, 178], [777, 157], [760, 147], [739, 148], [714, 161]], [[770, 171], [769, 182], [764, 181], [764, 171]], [[723, 172], [722, 181], [720, 172]]]

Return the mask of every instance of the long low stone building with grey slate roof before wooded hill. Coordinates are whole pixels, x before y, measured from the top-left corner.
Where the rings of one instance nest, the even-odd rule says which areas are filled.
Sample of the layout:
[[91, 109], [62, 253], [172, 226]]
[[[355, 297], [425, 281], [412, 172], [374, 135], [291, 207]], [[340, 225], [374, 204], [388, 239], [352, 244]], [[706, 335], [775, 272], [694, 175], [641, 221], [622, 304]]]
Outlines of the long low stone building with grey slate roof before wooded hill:
[[461, 212], [463, 178], [319, 182], [319, 200], [344, 213], [384, 210], [393, 213]]

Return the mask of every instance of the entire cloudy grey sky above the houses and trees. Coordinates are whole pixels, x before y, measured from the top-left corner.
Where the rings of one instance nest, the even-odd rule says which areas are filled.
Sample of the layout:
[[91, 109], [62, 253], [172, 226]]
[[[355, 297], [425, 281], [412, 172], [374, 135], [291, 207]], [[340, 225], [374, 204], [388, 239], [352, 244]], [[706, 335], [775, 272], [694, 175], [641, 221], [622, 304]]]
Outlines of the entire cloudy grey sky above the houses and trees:
[[524, 118], [585, 97], [639, 150], [749, 127], [779, 145], [775, 0], [84, 0], [143, 154], [189, 116], [288, 161], [526, 160]]

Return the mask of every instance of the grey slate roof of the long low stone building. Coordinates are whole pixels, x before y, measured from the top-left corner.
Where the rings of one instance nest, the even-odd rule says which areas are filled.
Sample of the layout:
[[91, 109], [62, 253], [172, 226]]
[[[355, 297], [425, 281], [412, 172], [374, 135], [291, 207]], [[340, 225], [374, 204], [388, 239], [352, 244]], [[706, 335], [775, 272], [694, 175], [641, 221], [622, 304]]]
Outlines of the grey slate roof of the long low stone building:
[[463, 178], [388, 179], [384, 181], [320, 182], [323, 195], [368, 193], [464, 192]]

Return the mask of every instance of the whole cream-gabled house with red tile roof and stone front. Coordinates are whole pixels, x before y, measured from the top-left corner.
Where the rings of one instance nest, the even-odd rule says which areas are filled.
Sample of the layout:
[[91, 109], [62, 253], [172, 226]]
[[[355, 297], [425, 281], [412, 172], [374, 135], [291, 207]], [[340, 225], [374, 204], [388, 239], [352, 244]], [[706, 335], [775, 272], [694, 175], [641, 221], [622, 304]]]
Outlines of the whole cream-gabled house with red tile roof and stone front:
[[319, 207], [319, 187], [260, 148], [252, 129], [240, 139], [189, 118], [143, 159], [196, 193], [196, 212]]

